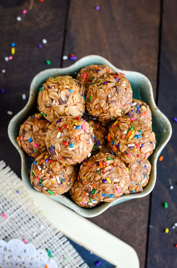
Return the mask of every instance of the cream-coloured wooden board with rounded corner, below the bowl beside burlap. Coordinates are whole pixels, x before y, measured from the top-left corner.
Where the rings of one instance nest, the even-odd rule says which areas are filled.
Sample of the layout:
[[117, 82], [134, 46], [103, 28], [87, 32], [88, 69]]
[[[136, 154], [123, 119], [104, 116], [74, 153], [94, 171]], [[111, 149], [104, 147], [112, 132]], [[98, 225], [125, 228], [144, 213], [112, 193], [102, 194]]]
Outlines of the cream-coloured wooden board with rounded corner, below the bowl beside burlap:
[[[50, 215], [53, 215], [51, 217], [47, 214], [48, 220], [79, 245], [109, 261], [109, 263], [115, 265], [115, 268], [140, 267], [137, 253], [122, 240], [54, 200], [33, 192], [30, 192], [30, 194], [44, 213], [50, 211]], [[55, 213], [57, 210], [60, 213]]]

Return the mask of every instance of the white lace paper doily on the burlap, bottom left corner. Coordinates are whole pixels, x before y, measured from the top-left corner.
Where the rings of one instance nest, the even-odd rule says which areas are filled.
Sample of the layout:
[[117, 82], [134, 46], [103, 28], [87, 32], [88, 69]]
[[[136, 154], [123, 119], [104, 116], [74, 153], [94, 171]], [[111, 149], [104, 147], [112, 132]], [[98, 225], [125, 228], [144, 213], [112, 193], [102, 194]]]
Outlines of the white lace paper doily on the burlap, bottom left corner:
[[56, 261], [44, 249], [20, 239], [0, 240], [0, 262], [3, 268], [58, 268]]

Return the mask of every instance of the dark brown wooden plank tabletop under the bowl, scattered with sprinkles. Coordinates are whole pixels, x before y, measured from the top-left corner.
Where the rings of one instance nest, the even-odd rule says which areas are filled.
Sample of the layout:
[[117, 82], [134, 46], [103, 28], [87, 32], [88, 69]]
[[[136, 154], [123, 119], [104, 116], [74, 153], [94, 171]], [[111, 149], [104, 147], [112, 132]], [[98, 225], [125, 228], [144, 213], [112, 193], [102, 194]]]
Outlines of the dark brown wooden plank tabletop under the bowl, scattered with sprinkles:
[[[95, 7], [99, 5], [100, 9]], [[22, 11], [26, 9], [27, 13]], [[12, 118], [27, 102], [32, 78], [50, 67], [66, 67], [89, 54], [104, 56], [124, 70], [144, 73], [153, 85], [158, 107], [172, 123], [173, 135], [158, 162], [157, 183], [144, 198], [128, 201], [90, 219], [135, 248], [140, 267], [177, 267], [177, 1], [176, 0], [1, 0], [0, 159], [18, 176], [20, 157], [7, 135]], [[22, 17], [17, 21], [16, 17]], [[47, 44], [38, 48], [42, 39]], [[16, 43], [12, 61], [10, 44]], [[22, 94], [27, 95], [22, 100]], [[170, 180], [174, 186], [170, 190]], [[8, 182], [10, 183], [10, 182]], [[1, 189], [3, 190], [3, 189]], [[168, 202], [168, 209], [163, 207]], [[168, 227], [169, 233], [164, 229]], [[121, 267], [122, 268], [122, 267]]]

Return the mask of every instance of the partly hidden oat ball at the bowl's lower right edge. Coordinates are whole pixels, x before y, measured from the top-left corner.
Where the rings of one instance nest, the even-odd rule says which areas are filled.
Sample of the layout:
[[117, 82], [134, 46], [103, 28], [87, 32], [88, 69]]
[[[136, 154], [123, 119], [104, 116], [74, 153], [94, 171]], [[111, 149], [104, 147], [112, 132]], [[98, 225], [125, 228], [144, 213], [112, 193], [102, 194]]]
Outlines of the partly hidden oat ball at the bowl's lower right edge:
[[148, 160], [140, 160], [135, 163], [127, 164], [127, 167], [129, 169], [130, 184], [125, 194], [142, 192], [143, 187], [145, 187], [149, 181], [151, 171], [150, 162]]

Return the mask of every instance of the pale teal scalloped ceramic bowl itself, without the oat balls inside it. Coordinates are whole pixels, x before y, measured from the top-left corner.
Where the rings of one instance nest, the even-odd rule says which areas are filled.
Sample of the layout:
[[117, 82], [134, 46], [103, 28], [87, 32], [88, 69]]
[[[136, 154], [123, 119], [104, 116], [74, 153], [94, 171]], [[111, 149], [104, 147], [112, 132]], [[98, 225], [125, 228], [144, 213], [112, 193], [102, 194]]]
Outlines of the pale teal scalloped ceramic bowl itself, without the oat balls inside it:
[[106, 64], [107, 66], [111, 67], [112, 70], [114, 70], [115, 72], [123, 72], [125, 74], [126, 78], [130, 81], [130, 84], [132, 86], [133, 97], [135, 99], [145, 101], [151, 108], [153, 117], [153, 131], [155, 132], [156, 137], [156, 147], [153, 154], [150, 156], [150, 162], [152, 165], [150, 180], [148, 185], [144, 188], [144, 190], [141, 193], [123, 195], [112, 202], [109, 203], [103, 202], [103, 204], [101, 204], [100, 206], [90, 209], [81, 208], [77, 206], [69, 198], [69, 195], [67, 193], [60, 196], [51, 196], [51, 197], [46, 196], [46, 198], [53, 198], [55, 201], [62, 203], [65, 206], [68, 206], [69, 208], [73, 209], [75, 212], [84, 217], [95, 217], [104, 212], [110, 206], [114, 206], [116, 204], [122, 203], [127, 200], [131, 200], [133, 198], [140, 198], [143, 196], [147, 196], [153, 190], [155, 185], [158, 156], [160, 155], [160, 152], [163, 150], [163, 148], [169, 141], [172, 133], [172, 128], [169, 120], [162, 112], [160, 112], [160, 110], [157, 108], [155, 104], [153, 97], [153, 89], [150, 81], [145, 75], [142, 75], [141, 73], [120, 70], [114, 67], [109, 61], [107, 61], [103, 57], [97, 55], [85, 56], [79, 59], [73, 65], [66, 68], [53, 68], [44, 70], [38, 73], [33, 78], [30, 86], [30, 97], [26, 106], [12, 118], [8, 127], [9, 138], [11, 142], [14, 144], [14, 146], [17, 148], [21, 156], [22, 180], [25, 186], [29, 190], [36, 192], [36, 190], [30, 184], [30, 168], [32, 159], [29, 156], [27, 156], [27, 154], [25, 154], [22, 148], [20, 148], [19, 145], [17, 144], [16, 137], [18, 136], [19, 127], [24, 122], [24, 120], [27, 119], [28, 116], [37, 112], [36, 99], [38, 89], [48, 77], [55, 75], [71, 75], [76, 77], [76, 73], [81, 68], [90, 64]]

